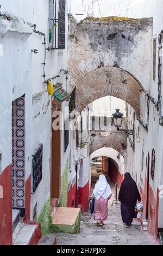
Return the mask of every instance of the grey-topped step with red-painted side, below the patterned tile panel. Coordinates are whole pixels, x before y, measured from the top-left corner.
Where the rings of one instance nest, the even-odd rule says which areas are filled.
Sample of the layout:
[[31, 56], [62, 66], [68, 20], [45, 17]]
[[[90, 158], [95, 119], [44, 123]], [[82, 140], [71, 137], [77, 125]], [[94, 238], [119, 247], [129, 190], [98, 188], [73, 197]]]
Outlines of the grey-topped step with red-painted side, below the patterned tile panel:
[[13, 245], [37, 245], [41, 236], [40, 223], [19, 222], [13, 233]]

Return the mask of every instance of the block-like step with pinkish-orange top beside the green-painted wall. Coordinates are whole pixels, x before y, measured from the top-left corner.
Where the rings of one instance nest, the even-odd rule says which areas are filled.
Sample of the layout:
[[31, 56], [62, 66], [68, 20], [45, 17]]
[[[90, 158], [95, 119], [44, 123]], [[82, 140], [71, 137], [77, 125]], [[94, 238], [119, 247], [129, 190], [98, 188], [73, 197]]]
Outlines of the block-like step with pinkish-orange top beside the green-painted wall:
[[80, 232], [80, 208], [58, 207], [52, 219], [54, 233], [77, 234]]

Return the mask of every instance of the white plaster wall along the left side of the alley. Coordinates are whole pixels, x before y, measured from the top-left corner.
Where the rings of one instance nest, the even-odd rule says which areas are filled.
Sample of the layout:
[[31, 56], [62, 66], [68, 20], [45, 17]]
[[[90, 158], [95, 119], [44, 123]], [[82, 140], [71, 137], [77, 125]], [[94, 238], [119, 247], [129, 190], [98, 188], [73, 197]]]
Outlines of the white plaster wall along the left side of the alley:
[[[48, 0], [14, 0], [1, 1], [1, 12], [16, 15], [24, 21], [36, 23], [36, 30], [46, 34], [46, 47], [48, 43], [49, 9]], [[13, 16], [14, 17], [14, 16]], [[17, 19], [14, 18], [15, 19]], [[43, 144], [43, 177], [31, 201], [31, 219], [35, 204], [37, 203], [37, 216], [50, 192], [50, 157], [51, 157], [51, 97], [48, 96], [47, 86], [43, 84], [43, 66], [45, 49], [43, 36], [31, 34], [32, 28], [27, 23], [15, 22], [15, 28], [0, 29], [1, 57], [0, 57], [0, 151], [2, 151], [2, 164], [5, 169], [11, 164], [11, 107], [12, 100], [26, 95], [26, 178], [32, 172], [32, 155], [39, 144]], [[1, 27], [2, 28], [2, 27]], [[12, 32], [10, 32], [11, 30]], [[66, 38], [67, 38], [66, 19]], [[3, 35], [3, 36], [2, 36]], [[67, 41], [66, 41], [67, 47]], [[32, 49], [39, 50], [38, 54]], [[2, 51], [3, 50], [3, 51]], [[67, 69], [67, 50], [46, 51], [46, 79], [58, 75], [61, 68]], [[62, 72], [58, 80], [66, 90], [66, 76]], [[62, 104], [62, 109], [65, 109]], [[63, 131], [62, 131], [63, 135]], [[62, 136], [63, 138], [63, 136]], [[63, 141], [63, 140], [62, 140]], [[63, 144], [63, 142], [62, 142]], [[69, 152], [63, 152], [62, 170]], [[41, 197], [40, 197], [41, 195]]]

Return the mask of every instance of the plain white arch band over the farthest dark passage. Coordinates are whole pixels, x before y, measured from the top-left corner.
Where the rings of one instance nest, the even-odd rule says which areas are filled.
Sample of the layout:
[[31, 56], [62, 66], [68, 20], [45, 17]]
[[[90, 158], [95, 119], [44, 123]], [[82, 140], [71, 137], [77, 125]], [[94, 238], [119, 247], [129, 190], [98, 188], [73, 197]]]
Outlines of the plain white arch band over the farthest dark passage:
[[91, 158], [95, 157], [109, 157], [115, 160], [118, 164], [118, 171], [124, 174], [124, 157], [118, 151], [114, 150], [114, 148], [100, 148], [91, 154]]

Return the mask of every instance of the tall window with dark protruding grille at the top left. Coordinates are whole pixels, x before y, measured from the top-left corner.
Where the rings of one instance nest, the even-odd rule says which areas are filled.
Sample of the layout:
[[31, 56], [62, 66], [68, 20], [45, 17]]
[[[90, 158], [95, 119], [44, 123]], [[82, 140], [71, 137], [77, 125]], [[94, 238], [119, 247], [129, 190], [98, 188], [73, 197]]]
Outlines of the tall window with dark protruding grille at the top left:
[[51, 49], [65, 49], [66, 0], [49, 0], [49, 43]]

